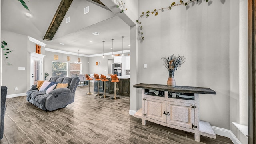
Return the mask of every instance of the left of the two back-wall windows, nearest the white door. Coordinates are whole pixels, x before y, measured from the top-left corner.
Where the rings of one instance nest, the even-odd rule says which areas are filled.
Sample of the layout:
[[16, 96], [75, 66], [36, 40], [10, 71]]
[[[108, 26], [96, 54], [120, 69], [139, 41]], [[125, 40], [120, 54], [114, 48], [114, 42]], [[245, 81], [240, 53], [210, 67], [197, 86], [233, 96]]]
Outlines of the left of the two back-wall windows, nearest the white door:
[[52, 62], [52, 76], [64, 76], [68, 74], [67, 62]]

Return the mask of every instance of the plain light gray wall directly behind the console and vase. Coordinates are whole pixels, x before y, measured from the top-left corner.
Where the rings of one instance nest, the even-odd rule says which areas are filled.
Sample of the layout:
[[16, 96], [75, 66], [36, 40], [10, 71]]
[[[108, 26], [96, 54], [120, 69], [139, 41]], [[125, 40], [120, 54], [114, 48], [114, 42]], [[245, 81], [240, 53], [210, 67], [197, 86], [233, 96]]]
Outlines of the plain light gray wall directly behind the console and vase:
[[[167, 6], [169, 0], [139, 0], [139, 15]], [[217, 95], [200, 94], [200, 120], [230, 129], [229, 1], [213, 1], [210, 6], [203, 1], [158, 13], [140, 20], [144, 42], [139, 44], [138, 83], [166, 84], [168, 70], [161, 58], [185, 56], [174, 74], [176, 84], [215, 90]]]

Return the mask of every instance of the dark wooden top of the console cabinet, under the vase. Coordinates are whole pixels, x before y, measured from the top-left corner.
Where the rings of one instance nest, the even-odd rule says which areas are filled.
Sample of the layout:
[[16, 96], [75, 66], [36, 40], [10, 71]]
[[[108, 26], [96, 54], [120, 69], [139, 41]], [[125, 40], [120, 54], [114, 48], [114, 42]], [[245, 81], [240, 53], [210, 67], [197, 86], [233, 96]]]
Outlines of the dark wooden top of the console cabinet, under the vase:
[[179, 92], [179, 93], [194, 93], [194, 94], [216, 94], [216, 92], [210, 88], [202, 88], [202, 87], [191, 87], [191, 86], [175, 86], [170, 87], [167, 85], [161, 84], [135, 84], [134, 88], [145, 88], [145, 89], [153, 89], [153, 90], [162, 90], [168, 92]]

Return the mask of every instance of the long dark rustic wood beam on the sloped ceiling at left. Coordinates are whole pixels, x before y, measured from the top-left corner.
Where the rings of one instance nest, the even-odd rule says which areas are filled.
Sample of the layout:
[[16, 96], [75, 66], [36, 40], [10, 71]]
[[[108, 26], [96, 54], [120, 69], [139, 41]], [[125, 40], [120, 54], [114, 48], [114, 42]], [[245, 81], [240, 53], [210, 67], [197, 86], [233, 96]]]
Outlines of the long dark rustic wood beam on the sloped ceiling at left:
[[61, 0], [57, 11], [52, 18], [52, 22], [44, 35], [44, 40], [51, 41], [53, 39], [72, 2], [73, 0]]

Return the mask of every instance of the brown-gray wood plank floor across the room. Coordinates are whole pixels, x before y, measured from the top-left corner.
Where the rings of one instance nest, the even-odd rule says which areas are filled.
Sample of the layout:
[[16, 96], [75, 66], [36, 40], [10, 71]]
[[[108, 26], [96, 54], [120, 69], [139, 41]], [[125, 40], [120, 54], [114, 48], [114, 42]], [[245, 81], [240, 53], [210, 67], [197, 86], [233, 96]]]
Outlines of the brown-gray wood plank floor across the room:
[[[93, 90], [93, 84], [91, 85]], [[52, 112], [40, 110], [26, 96], [8, 98], [1, 144], [232, 144], [147, 122], [129, 115], [129, 97], [118, 100], [86, 95], [78, 87], [75, 102]], [[94, 92], [96, 93], [96, 92]]]

